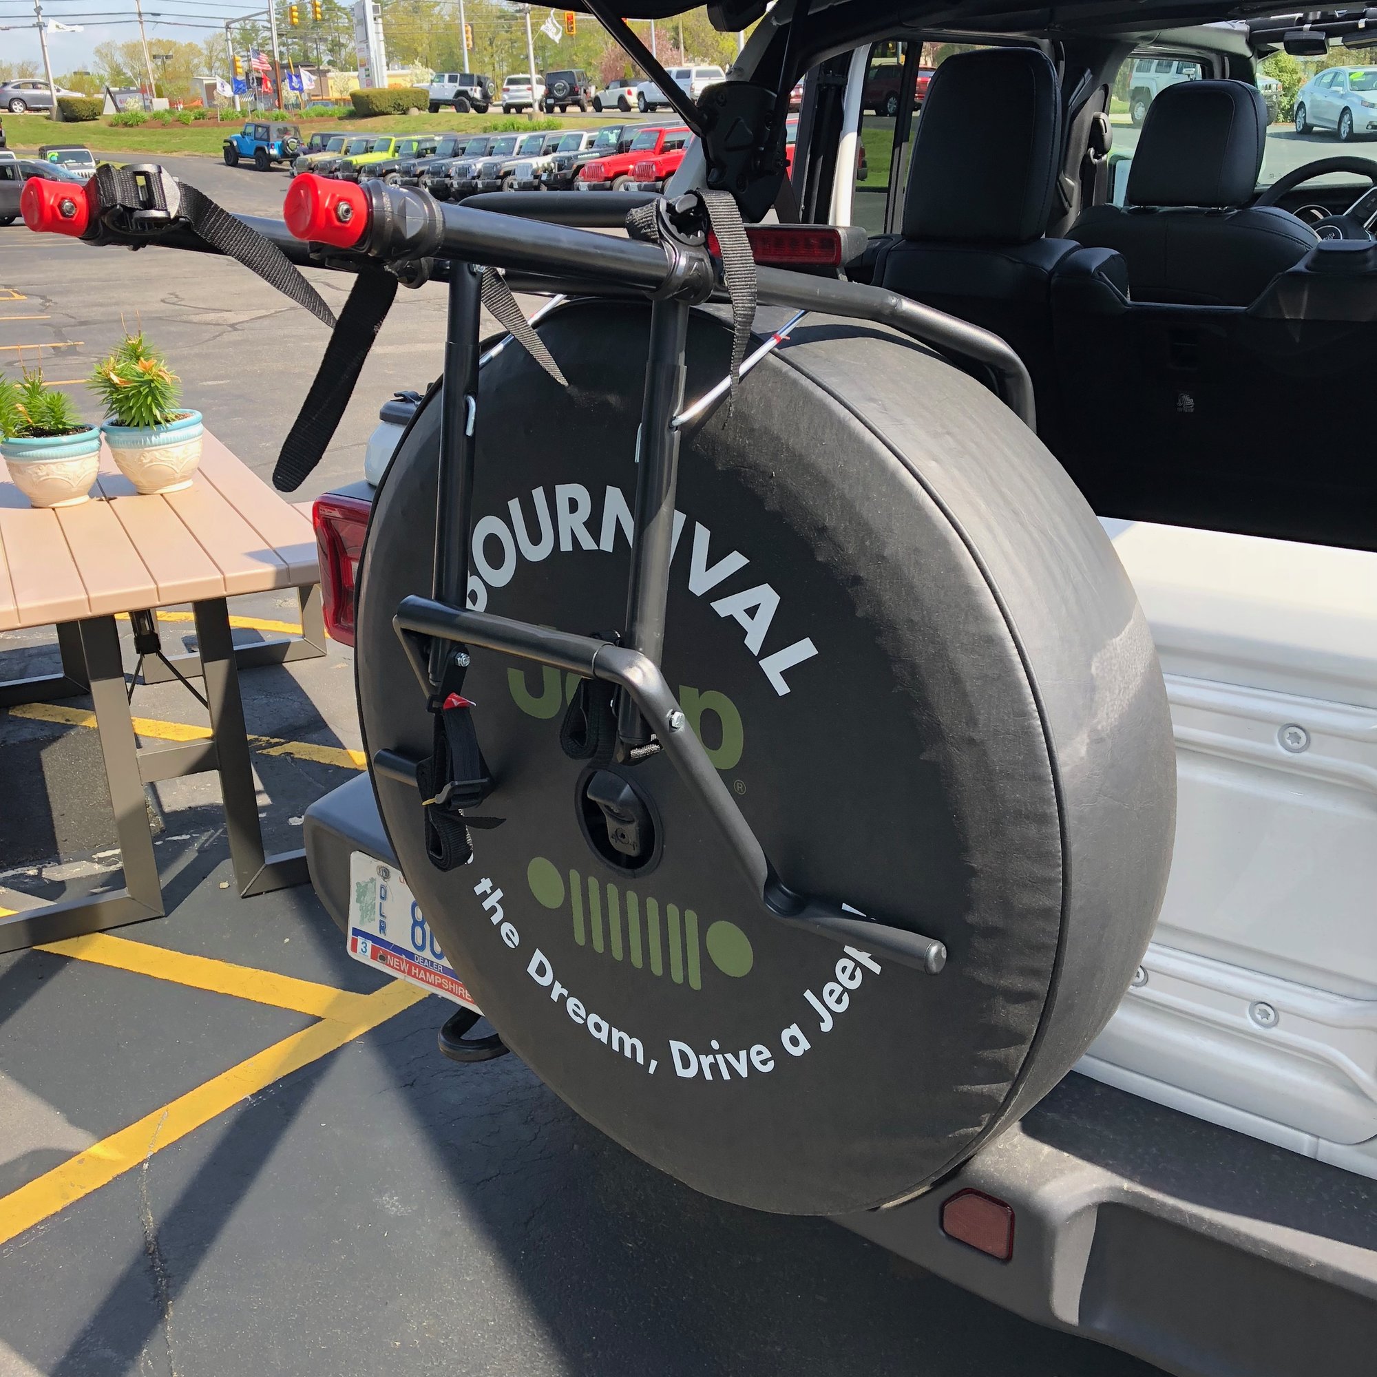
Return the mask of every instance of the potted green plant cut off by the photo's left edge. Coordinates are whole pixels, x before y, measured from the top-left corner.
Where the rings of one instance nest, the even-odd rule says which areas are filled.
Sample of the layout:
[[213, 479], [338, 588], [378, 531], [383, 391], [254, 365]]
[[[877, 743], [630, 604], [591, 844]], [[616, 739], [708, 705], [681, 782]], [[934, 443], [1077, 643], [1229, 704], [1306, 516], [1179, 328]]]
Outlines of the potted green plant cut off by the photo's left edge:
[[76, 413], [72, 398], [43, 384], [0, 377], [0, 454], [14, 486], [34, 507], [73, 507], [91, 494], [101, 468], [101, 431]]

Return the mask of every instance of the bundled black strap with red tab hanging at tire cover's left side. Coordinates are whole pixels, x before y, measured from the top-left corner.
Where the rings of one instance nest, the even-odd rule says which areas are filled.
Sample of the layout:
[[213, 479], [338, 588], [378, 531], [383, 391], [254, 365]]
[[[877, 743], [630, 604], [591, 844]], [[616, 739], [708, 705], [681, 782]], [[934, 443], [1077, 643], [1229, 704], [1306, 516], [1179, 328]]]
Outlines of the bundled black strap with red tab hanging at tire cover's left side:
[[503, 822], [467, 817], [464, 811], [476, 808], [492, 793], [493, 778], [478, 745], [474, 705], [459, 691], [463, 683], [464, 669], [457, 655], [452, 655], [432, 700], [431, 755], [416, 767], [425, 810], [425, 854], [437, 870], [468, 863], [474, 854], [470, 828], [496, 828]]

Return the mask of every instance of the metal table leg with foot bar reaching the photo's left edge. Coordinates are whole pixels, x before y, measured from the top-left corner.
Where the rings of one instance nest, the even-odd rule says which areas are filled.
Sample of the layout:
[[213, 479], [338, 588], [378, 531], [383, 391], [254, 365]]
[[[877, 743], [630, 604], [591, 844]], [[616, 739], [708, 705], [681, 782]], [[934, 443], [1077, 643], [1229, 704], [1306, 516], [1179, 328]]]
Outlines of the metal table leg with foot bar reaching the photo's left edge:
[[[69, 624], [74, 636], [63, 644], [63, 664], [76, 668], [76, 649], [81, 651], [81, 677], [90, 684], [101, 733], [101, 755], [110, 786], [116, 837], [124, 866], [124, 888], [85, 899], [65, 899], [26, 909], [0, 918], [0, 952], [18, 952], [40, 942], [102, 932], [127, 923], [160, 918], [164, 914], [162, 887], [158, 881], [153, 833], [143, 797], [138, 742], [134, 719], [124, 687], [124, 661], [120, 657], [120, 632], [113, 617], [92, 617]], [[59, 628], [59, 635], [62, 628]], [[77, 690], [81, 691], [80, 688]]]

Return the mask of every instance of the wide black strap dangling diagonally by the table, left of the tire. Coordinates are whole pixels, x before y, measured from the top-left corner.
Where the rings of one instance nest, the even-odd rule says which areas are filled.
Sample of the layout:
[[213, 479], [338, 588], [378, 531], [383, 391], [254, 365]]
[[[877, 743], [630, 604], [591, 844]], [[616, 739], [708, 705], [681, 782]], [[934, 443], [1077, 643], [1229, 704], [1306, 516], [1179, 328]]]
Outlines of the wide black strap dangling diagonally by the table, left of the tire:
[[278, 492], [295, 492], [321, 461], [354, 394], [368, 351], [387, 319], [397, 286], [397, 277], [381, 269], [368, 267], [359, 271], [344, 310], [340, 311], [335, 333], [325, 346], [325, 357], [315, 370], [311, 390], [282, 442], [277, 468], [273, 470], [273, 486]]

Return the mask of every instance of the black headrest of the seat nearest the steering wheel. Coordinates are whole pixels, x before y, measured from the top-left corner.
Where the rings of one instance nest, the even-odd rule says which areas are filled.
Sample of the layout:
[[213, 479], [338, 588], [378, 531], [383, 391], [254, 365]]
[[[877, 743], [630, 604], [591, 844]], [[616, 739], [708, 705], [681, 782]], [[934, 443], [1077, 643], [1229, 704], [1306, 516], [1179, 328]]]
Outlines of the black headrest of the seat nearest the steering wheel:
[[1147, 109], [1131, 205], [1246, 205], [1257, 191], [1267, 105], [1243, 81], [1180, 81]]

